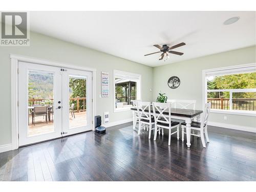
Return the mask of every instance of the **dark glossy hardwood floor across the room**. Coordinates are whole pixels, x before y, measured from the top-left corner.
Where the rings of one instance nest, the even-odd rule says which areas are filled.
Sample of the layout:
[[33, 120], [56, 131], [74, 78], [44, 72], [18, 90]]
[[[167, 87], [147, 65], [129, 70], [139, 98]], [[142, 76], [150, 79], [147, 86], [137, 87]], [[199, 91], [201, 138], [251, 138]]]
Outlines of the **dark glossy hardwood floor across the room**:
[[[255, 134], [209, 126], [186, 142], [148, 140], [132, 123], [0, 154], [2, 181], [256, 181]], [[153, 134], [154, 136], [154, 134]], [[152, 138], [153, 138], [152, 136]]]

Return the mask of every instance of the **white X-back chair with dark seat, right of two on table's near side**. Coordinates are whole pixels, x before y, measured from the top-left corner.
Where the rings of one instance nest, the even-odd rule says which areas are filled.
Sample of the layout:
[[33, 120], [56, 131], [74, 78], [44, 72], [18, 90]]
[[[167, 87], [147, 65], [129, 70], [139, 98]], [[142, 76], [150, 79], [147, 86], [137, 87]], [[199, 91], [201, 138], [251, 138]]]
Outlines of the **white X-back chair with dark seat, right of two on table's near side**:
[[[173, 134], [177, 133], [177, 140], [179, 140], [179, 125], [180, 122], [178, 121], [172, 121], [171, 115], [170, 115], [170, 103], [158, 103], [153, 102], [153, 113], [155, 118], [155, 135], [154, 135], [154, 141], [157, 139], [157, 131], [162, 129], [162, 135], [163, 135], [163, 129], [169, 130], [169, 138], [168, 138], [168, 145], [170, 145], [170, 139]], [[167, 112], [168, 115], [164, 115], [163, 113]], [[177, 129], [175, 132], [172, 133], [172, 129]]]

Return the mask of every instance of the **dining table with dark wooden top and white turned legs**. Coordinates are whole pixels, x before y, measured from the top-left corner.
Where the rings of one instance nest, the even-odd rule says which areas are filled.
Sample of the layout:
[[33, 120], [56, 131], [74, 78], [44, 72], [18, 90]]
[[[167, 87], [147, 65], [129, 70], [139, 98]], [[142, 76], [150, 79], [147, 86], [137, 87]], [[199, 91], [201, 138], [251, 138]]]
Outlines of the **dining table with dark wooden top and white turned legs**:
[[[133, 113], [133, 130], [136, 130], [136, 114], [138, 113], [137, 108], [131, 108]], [[141, 110], [140, 110], [141, 111]], [[146, 109], [144, 111], [146, 114], [149, 114], [149, 111]], [[154, 114], [153, 106], [151, 106], [151, 115]], [[159, 113], [156, 110], [156, 113]], [[190, 109], [179, 109], [179, 108], [170, 108], [170, 115], [172, 119], [184, 120], [186, 123], [186, 137], [187, 137], [187, 147], [190, 147], [190, 134], [191, 134], [191, 122], [192, 120], [200, 122], [200, 116], [203, 113], [202, 110], [190, 110]], [[163, 115], [168, 117], [168, 111], [163, 112]]]

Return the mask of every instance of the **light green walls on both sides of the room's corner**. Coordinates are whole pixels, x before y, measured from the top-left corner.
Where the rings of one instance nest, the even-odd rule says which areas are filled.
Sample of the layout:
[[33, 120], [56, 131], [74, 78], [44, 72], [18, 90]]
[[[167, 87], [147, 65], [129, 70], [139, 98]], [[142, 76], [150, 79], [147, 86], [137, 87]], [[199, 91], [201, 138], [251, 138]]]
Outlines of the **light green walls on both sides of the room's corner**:
[[[255, 62], [255, 47], [249, 47], [225, 53], [190, 59], [169, 65], [151, 68], [140, 63], [125, 60], [109, 54], [98, 52], [51, 38], [45, 35], [31, 33], [29, 47], [0, 47], [0, 145], [11, 143], [11, 63], [10, 53], [70, 63], [75, 66], [97, 69], [97, 115], [110, 112], [110, 121], [131, 118], [131, 112], [113, 113], [113, 70], [121, 70], [142, 75], [142, 99], [152, 101], [159, 91], [165, 92], [168, 98], [196, 99], [197, 108], [202, 106], [202, 70], [241, 65]], [[99, 98], [101, 91], [100, 73], [110, 73], [110, 97]], [[181, 85], [176, 90], [167, 86], [170, 76], [176, 75], [181, 79]], [[153, 92], [150, 91], [153, 89]], [[256, 126], [255, 118], [248, 116], [211, 114], [210, 121], [242, 126]]]

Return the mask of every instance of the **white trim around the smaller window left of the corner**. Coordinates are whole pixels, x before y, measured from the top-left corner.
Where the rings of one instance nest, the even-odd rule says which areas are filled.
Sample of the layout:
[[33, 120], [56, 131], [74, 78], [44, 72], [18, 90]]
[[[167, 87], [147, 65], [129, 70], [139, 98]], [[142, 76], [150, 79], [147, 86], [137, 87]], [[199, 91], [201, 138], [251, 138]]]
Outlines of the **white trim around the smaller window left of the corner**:
[[136, 73], [130, 73], [130, 72], [125, 72], [125, 71], [119, 71], [119, 70], [113, 70], [113, 111], [114, 113], [118, 112], [124, 112], [124, 111], [130, 111], [131, 106], [127, 108], [122, 108], [122, 109], [116, 109], [116, 83], [115, 83], [115, 75], [116, 73], [121, 73], [124, 75], [131, 75], [131, 76], [136, 76], [139, 78], [138, 84], [137, 84], [137, 98], [136, 99], [141, 99], [141, 74], [136, 74]]

